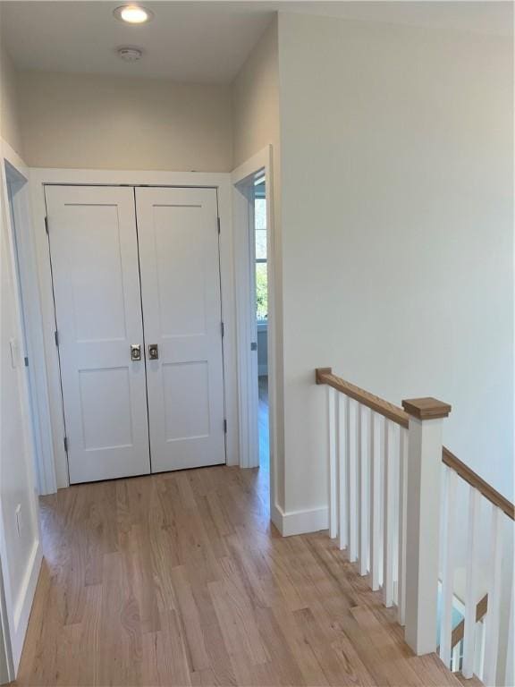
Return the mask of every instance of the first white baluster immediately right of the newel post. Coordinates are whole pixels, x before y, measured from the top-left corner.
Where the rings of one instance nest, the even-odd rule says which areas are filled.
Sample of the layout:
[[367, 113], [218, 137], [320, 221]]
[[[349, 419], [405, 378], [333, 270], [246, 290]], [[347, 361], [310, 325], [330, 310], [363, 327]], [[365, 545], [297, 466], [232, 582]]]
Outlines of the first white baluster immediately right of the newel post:
[[454, 549], [456, 538], [456, 473], [445, 469], [445, 510], [443, 536], [442, 617], [440, 624], [440, 658], [451, 663], [452, 599], [454, 596]]

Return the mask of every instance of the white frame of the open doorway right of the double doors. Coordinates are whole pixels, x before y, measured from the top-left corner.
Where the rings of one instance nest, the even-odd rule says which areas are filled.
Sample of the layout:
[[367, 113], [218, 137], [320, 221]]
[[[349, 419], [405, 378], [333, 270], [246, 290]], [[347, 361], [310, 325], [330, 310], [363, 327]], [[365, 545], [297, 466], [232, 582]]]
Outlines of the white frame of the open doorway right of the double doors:
[[266, 261], [268, 273], [268, 432], [270, 451], [270, 502], [274, 513], [276, 456], [277, 456], [277, 405], [276, 405], [276, 358], [275, 358], [275, 305], [276, 305], [276, 255], [274, 233], [274, 179], [272, 169], [272, 146], [260, 150], [256, 155], [233, 170], [232, 208], [234, 233], [235, 283], [239, 294], [236, 302], [238, 327], [238, 398], [240, 404], [240, 466], [256, 467], [259, 464], [258, 445], [258, 359], [251, 352], [250, 344], [256, 335], [255, 312], [250, 292], [253, 284], [250, 237], [254, 232], [253, 197], [249, 186], [256, 174], [263, 173], [266, 182]]

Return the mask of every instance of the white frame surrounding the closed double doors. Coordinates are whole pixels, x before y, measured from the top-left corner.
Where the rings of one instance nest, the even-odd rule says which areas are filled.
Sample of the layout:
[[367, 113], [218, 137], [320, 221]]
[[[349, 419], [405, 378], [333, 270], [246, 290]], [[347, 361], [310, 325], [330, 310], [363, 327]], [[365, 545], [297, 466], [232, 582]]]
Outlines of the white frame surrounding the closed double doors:
[[63, 396], [61, 393], [59, 358], [55, 345], [55, 307], [50, 267], [49, 244], [46, 235], [46, 185], [77, 186], [172, 186], [184, 188], [214, 188], [218, 199], [221, 232], [220, 277], [222, 318], [224, 321], [224, 406], [227, 419], [225, 454], [228, 465], [239, 464], [238, 458], [238, 389], [236, 372], [236, 328], [234, 317], [234, 276], [232, 260], [232, 188], [231, 174], [211, 172], [146, 172], [88, 169], [30, 169], [33, 215], [33, 241], [38, 263], [38, 298], [41, 302], [43, 342], [48, 404], [54, 446], [55, 487], [70, 485], [68, 459], [64, 450]]

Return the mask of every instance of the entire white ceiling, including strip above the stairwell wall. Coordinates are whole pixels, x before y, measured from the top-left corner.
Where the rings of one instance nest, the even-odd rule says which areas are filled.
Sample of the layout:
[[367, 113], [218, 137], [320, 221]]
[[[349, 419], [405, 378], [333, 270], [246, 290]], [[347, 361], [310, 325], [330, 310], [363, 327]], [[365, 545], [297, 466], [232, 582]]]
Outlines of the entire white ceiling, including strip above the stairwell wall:
[[[126, 0], [128, 2], [128, 0]], [[125, 0], [0, 3], [2, 39], [20, 69], [163, 77], [228, 83], [239, 72], [274, 12], [301, 12], [484, 34], [511, 35], [511, 2], [146, 2], [154, 21], [114, 19]], [[116, 48], [141, 47], [126, 64]]]

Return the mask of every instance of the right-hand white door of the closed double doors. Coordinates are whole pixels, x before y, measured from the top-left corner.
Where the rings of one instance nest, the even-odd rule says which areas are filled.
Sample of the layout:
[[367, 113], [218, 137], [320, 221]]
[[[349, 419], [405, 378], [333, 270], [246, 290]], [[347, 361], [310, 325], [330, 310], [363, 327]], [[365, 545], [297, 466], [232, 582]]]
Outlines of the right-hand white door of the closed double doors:
[[216, 192], [139, 188], [136, 207], [152, 471], [225, 462]]

